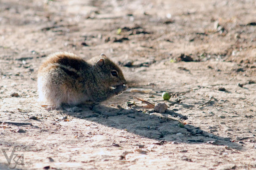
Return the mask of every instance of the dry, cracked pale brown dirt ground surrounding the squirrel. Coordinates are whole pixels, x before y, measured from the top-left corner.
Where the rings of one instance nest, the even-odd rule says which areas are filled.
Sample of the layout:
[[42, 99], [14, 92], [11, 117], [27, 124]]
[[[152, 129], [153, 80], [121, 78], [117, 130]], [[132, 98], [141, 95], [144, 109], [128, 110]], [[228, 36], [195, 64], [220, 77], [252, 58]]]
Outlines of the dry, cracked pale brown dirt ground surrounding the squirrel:
[[[29, 170], [256, 169], [255, 9], [255, 0], [1, 0], [0, 121], [32, 125], [0, 125], [0, 169], [19, 158]], [[128, 90], [92, 110], [47, 111], [36, 74], [57, 51], [105, 53]], [[11, 158], [17, 146], [8, 165], [2, 149]]]

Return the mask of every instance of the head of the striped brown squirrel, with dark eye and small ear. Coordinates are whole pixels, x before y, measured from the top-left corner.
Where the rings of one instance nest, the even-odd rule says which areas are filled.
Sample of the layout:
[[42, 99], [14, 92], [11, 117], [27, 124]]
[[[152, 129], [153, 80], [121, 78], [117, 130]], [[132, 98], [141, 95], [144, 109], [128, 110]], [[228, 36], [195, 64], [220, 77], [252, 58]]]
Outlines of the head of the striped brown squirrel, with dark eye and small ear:
[[116, 87], [127, 84], [122, 70], [106, 55], [101, 54], [95, 60], [95, 68], [98, 76], [106, 87]]

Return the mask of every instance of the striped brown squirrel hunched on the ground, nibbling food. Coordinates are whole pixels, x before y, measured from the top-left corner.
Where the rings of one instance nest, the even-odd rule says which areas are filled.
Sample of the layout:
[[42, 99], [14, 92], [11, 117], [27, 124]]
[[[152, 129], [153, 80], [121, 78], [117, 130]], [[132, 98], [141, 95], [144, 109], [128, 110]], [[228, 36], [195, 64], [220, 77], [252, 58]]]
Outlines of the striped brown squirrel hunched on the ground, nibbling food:
[[122, 70], [106, 55], [89, 61], [73, 53], [49, 55], [38, 69], [39, 101], [61, 104], [99, 103], [127, 89]]

